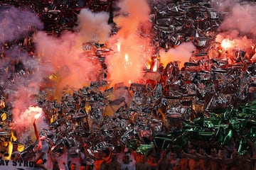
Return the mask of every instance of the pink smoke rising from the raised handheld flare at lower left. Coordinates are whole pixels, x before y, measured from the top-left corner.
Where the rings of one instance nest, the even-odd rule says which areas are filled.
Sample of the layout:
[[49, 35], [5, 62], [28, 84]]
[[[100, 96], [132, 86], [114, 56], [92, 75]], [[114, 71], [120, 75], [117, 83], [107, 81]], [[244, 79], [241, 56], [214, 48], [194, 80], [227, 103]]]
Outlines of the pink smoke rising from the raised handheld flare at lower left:
[[[5, 81], [4, 89], [8, 94], [6, 101], [14, 107], [12, 109], [11, 129], [16, 132], [18, 141], [25, 143], [29, 136], [33, 136], [33, 121], [37, 113], [41, 113], [41, 118], [38, 119], [38, 130], [47, 126], [43, 119], [42, 109], [39, 107], [37, 107], [38, 111], [30, 109], [31, 106], [36, 106], [35, 95], [39, 92], [43, 75], [37, 72], [38, 61], [26, 52], [21, 52], [18, 47], [7, 51], [6, 54], [11, 57], [10, 62], [6, 62], [6, 68], [9, 69], [9, 72], [6, 77], [1, 77], [1, 79]], [[21, 66], [12, 68], [11, 63], [13, 62], [19, 62]], [[28, 72], [35, 74], [28, 74]]]

